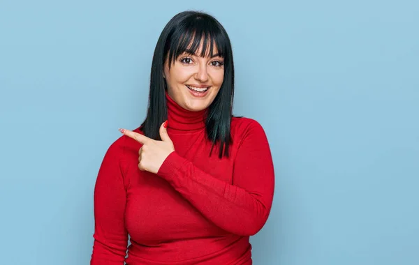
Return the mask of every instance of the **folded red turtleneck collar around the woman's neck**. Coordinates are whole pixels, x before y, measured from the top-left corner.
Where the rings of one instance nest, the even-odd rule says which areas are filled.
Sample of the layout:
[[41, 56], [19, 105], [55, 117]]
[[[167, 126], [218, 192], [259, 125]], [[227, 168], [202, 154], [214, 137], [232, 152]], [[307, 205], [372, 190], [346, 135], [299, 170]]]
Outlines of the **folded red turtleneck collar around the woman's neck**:
[[170, 98], [166, 91], [166, 103], [168, 106], [168, 128], [174, 130], [199, 130], [205, 128], [205, 114], [207, 109], [192, 112], [179, 106]]

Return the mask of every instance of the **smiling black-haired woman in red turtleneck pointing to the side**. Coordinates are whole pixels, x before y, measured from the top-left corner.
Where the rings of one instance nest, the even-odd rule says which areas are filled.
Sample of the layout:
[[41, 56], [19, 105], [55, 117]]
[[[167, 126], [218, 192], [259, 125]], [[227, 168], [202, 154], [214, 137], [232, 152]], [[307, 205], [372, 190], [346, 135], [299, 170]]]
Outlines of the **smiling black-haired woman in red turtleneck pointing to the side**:
[[225, 29], [205, 13], [175, 15], [150, 83], [145, 121], [120, 129], [98, 172], [91, 264], [251, 264], [274, 167], [260, 124], [232, 115]]

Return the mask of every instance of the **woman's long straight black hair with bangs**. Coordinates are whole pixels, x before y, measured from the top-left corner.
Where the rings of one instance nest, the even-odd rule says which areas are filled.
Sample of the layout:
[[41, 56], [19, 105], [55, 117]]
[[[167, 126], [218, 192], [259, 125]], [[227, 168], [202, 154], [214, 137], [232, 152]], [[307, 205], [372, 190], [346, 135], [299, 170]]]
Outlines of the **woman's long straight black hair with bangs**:
[[[224, 59], [223, 84], [208, 107], [205, 124], [207, 139], [212, 142], [212, 148], [219, 144], [219, 158], [228, 157], [228, 147], [232, 143], [230, 122], [234, 97], [233, 50], [226, 30], [207, 13], [178, 13], [161, 32], [152, 61], [147, 117], [141, 124], [141, 130], [147, 137], [160, 139], [159, 128], [168, 117], [166, 81], [163, 79], [164, 63], [168, 59], [170, 67], [183, 52], [197, 53], [202, 41], [203, 49], [200, 56], [212, 56], [215, 45], [219, 56]], [[207, 51], [207, 48], [210, 50]]]

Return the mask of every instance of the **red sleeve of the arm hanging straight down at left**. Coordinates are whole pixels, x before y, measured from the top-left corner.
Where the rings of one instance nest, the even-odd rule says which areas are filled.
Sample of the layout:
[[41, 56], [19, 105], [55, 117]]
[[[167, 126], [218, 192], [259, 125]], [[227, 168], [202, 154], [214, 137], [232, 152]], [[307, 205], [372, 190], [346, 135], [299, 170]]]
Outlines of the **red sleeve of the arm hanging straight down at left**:
[[91, 265], [122, 265], [128, 233], [124, 225], [126, 190], [120, 158], [122, 139], [105, 153], [94, 188], [94, 245]]

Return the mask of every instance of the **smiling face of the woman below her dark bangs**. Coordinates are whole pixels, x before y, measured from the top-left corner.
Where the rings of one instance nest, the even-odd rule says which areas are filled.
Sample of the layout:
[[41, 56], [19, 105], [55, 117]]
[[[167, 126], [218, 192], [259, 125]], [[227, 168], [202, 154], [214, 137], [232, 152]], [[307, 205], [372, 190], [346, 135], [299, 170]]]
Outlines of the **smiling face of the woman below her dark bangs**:
[[[164, 67], [164, 77], [168, 94], [184, 109], [198, 112], [206, 109], [219, 93], [224, 79], [224, 60], [220, 56], [198, 56], [181, 54], [169, 69], [168, 61]], [[209, 50], [209, 49], [207, 49]], [[214, 47], [214, 54], [217, 54]]]

